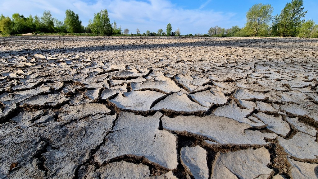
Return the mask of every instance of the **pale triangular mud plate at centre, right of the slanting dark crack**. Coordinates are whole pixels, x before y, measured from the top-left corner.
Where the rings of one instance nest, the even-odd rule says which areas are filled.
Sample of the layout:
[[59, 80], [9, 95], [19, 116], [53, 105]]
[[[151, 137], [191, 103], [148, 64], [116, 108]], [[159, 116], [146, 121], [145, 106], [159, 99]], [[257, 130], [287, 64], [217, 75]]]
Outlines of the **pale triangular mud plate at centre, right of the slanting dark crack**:
[[169, 95], [165, 99], [161, 100], [152, 110], [170, 109], [174, 111], [207, 111], [209, 108], [201, 106], [189, 99], [187, 94], [182, 94], [179, 96], [176, 93]]

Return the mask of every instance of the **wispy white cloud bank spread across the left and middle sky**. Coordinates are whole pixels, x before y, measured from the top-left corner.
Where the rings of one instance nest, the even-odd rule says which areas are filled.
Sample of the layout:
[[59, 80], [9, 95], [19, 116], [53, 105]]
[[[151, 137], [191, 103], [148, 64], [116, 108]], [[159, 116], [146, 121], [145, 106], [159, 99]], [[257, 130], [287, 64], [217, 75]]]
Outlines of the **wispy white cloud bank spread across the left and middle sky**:
[[[210, 0], [201, 5], [203, 8]], [[201, 9], [202, 9], [201, 8]], [[30, 14], [41, 16], [44, 10], [51, 11], [52, 15], [60, 20], [64, 19], [66, 9], [79, 14], [83, 25], [93, 18], [94, 13], [107, 9], [111, 22], [116, 21], [122, 29], [128, 28], [135, 32], [139, 28], [141, 32], [147, 30], [157, 32], [162, 28], [166, 30], [171, 23], [172, 30], [180, 28], [181, 34], [207, 33], [210, 27], [218, 25], [231, 27], [241, 22], [233, 21], [234, 13], [207, 11], [200, 9], [183, 9], [177, 7], [168, 0], [2, 0], [0, 13], [11, 16], [18, 12], [24, 16]]]

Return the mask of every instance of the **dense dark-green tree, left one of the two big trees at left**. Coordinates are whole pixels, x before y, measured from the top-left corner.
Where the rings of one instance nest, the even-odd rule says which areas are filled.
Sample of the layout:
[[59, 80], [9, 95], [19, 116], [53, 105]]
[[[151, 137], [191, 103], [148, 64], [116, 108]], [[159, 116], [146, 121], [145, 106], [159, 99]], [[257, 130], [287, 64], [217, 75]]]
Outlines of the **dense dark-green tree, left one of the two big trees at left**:
[[66, 25], [67, 32], [82, 32], [82, 21], [79, 20], [79, 15], [69, 9], [65, 11], [65, 15], [64, 23]]

